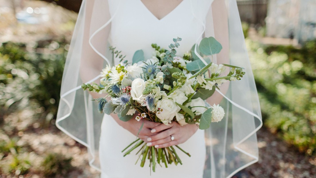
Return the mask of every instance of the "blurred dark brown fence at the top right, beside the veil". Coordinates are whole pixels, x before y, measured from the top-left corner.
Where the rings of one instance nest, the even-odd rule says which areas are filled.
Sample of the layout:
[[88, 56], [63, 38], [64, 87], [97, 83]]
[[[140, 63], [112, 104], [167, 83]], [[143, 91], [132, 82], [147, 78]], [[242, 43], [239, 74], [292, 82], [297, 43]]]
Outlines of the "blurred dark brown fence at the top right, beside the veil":
[[264, 26], [268, 0], [237, 0], [241, 21]]

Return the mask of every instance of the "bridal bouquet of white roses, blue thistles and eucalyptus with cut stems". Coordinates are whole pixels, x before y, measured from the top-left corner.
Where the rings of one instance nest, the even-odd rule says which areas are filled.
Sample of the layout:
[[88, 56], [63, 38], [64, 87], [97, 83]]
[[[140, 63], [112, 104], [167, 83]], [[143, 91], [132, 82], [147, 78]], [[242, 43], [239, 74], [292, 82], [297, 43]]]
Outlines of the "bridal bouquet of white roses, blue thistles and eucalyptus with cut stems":
[[[98, 101], [99, 112], [118, 114], [123, 121], [136, 119], [141, 122], [146, 119], [166, 125], [178, 122], [181, 126], [197, 124], [200, 129], [207, 129], [211, 122], [221, 121], [225, 113], [221, 106], [210, 106], [204, 100], [213, 95], [215, 88], [219, 89], [222, 83], [240, 80], [245, 72], [241, 67], [211, 62], [208, 56], [212, 57], [222, 49], [213, 37], [204, 38], [197, 47], [200, 57], [194, 53], [195, 46], [191, 52], [177, 56], [179, 41], [179, 37], [173, 39], [174, 43], [169, 45], [169, 50], [152, 44], [155, 54], [147, 60], [143, 51], [138, 50], [132, 58], [132, 64], [127, 60], [122, 62], [125, 56], [110, 47], [113, 58], [114, 55], [119, 58], [120, 64], [112, 67], [106, 65], [101, 72], [100, 85], [82, 84], [82, 89], [107, 93], [106, 97], [95, 99]], [[220, 76], [227, 67], [230, 68], [228, 74]], [[136, 111], [138, 114], [133, 118]], [[190, 156], [178, 145], [175, 147]], [[167, 164], [182, 164], [173, 146], [155, 148], [147, 146], [139, 138], [122, 152], [125, 151], [126, 156], [136, 148], [139, 148], [136, 154], [141, 159], [141, 167], [149, 159], [154, 172], [157, 163], [162, 162], [166, 168]]]

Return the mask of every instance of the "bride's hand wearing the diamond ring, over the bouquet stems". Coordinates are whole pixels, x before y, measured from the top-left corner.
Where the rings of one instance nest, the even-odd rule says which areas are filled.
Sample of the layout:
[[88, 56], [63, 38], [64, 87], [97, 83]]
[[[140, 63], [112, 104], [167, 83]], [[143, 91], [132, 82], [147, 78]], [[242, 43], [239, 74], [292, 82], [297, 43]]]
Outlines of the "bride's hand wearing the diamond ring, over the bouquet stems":
[[[161, 124], [154, 127], [151, 132], [157, 133], [147, 138], [147, 145], [155, 148], [165, 148], [172, 145], [182, 144], [188, 140], [198, 129], [196, 124], [180, 126], [178, 122], [172, 122], [169, 126]], [[171, 136], [174, 140], [171, 140]]]

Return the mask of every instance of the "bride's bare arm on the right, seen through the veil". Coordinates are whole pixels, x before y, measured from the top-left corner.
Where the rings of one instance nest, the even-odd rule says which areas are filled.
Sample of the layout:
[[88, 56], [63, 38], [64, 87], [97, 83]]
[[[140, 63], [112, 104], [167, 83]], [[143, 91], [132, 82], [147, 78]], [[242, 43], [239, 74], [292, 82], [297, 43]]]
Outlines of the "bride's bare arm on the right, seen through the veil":
[[[226, 4], [223, 0], [214, 0], [211, 5], [212, 14], [208, 14], [206, 18], [206, 28], [208, 28], [208, 22], [210, 17], [213, 16], [214, 24], [214, 36], [215, 39], [221, 43], [223, 49], [220, 53], [216, 55], [217, 64], [229, 64], [229, 39], [228, 39], [228, 15], [226, 10]], [[208, 36], [207, 36], [208, 37]], [[227, 75], [229, 70], [227, 69], [222, 75]], [[229, 81], [223, 83], [220, 86], [221, 92], [225, 94], [229, 87]], [[215, 92], [206, 101], [208, 103], [216, 105], [219, 104], [223, 99], [223, 96], [218, 92]]]

